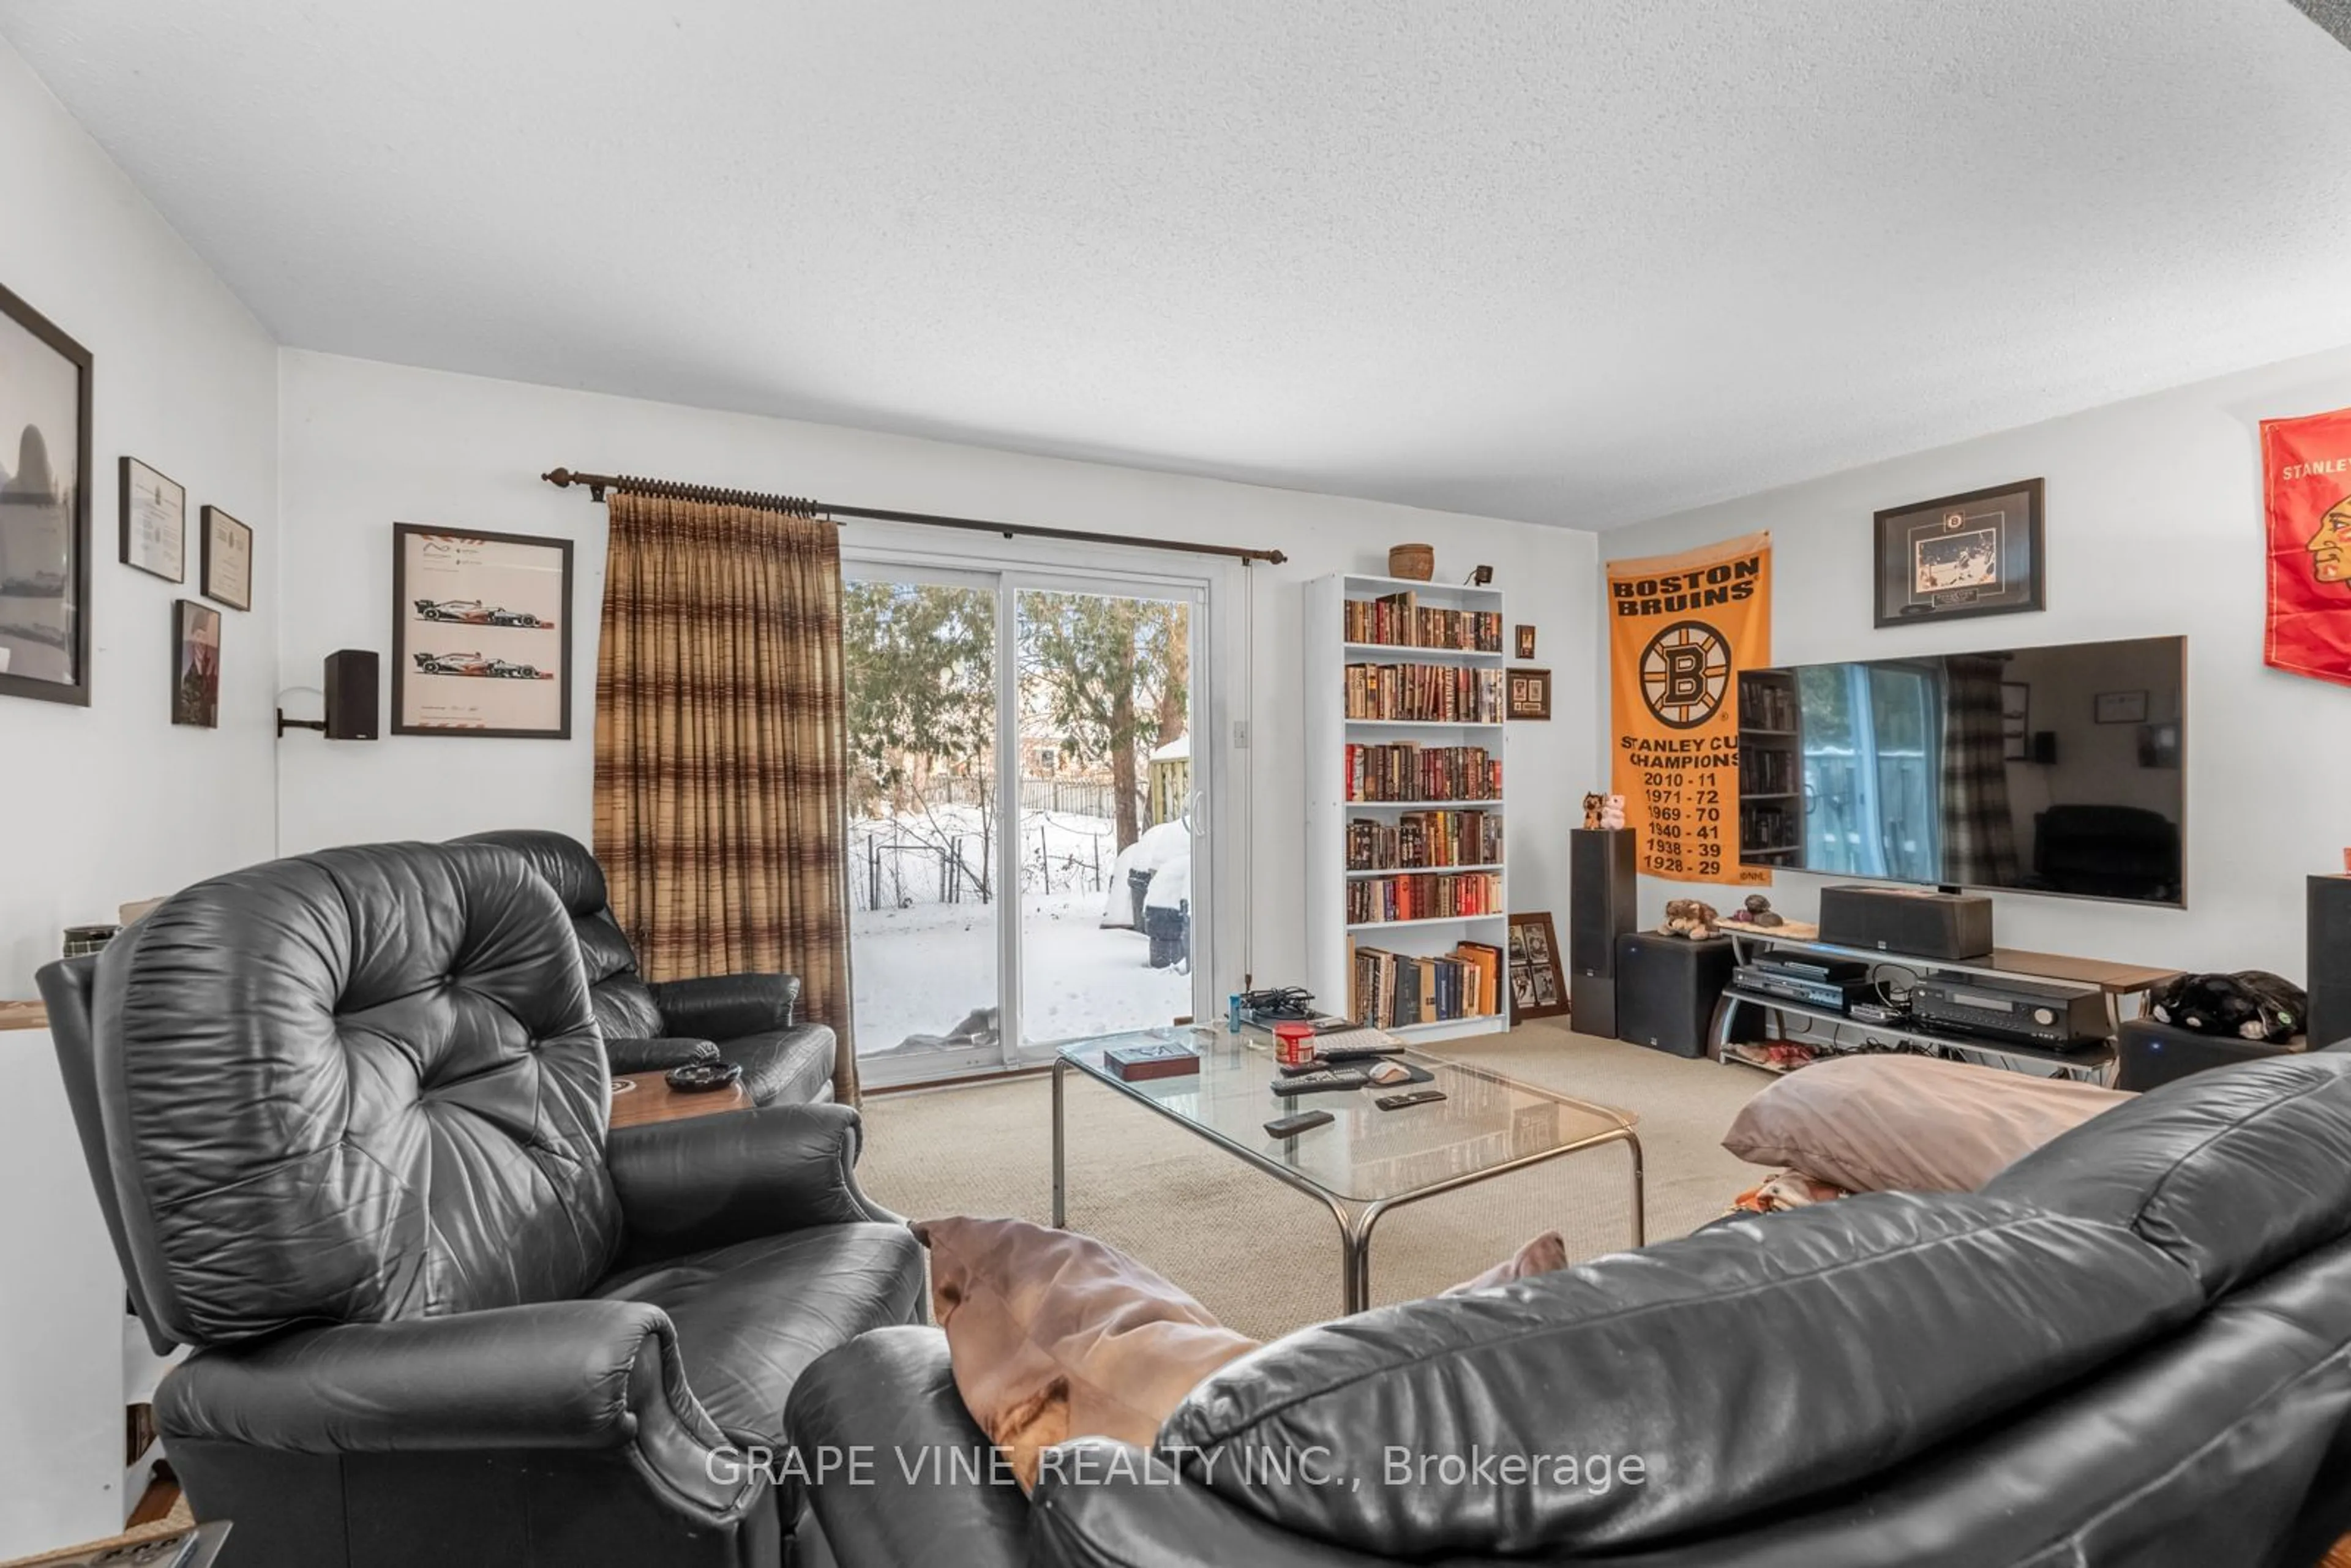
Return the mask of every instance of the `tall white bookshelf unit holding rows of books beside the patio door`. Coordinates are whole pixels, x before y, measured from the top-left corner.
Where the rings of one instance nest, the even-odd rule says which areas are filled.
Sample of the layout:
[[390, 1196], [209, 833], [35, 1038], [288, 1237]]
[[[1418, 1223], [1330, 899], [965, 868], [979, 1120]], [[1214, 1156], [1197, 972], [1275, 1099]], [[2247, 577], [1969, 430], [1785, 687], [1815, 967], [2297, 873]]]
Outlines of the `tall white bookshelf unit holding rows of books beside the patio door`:
[[[1305, 585], [1305, 769], [1307, 769], [1307, 987], [1317, 1006], [1345, 1013], [1354, 990], [1354, 945], [1387, 952], [1446, 954], [1455, 943], [1488, 943], [1509, 950], [1509, 872], [1502, 863], [1408, 867], [1401, 872], [1349, 872], [1347, 823], [1364, 816], [1394, 818], [1401, 811], [1505, 811], [1514, 776], [1502, 745], [1505, 724], [1436, 724], [1427, 719], [1349, 719], [1347, 665], [1429, 663], [1500, 670], [1509, 663], [1509, 618], [1502, 621], [1505, 651], [1408, 649], [1385, 642], [1347, 642], [1345, 602], [1411, 592], [1427, 609], [1479, 609], [1500, 616], [1500, 588], [1411, 583], [1389, 576], [1333, 574]], [[1502, 757], [1505, 799], [1347, 799], [1340, 762], [1347, 745], [1483, 745]], [[1505, 858], [1519, 853], [1516, 835], [1502, 832]], [[1366, 877], [1429, 872], [1502, 872], [1502, 910], [1495, 914], [1444, 914], [1432, 919], [1347, 922], [1347, 884]], [[1448, 1018], [1396, 1030], [1413, 1041], [1493, 1034], [1509, 1027], [1509, 976], [1502, 976], [1502, 1011], [1491, 1018]]]

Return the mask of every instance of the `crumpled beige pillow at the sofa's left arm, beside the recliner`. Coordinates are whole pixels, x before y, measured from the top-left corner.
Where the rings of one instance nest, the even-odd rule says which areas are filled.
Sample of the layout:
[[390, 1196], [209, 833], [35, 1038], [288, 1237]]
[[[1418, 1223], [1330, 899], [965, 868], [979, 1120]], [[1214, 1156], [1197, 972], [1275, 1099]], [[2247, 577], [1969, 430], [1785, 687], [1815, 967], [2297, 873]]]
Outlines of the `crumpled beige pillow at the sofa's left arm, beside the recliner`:
[[1150, 1446], [1201, 1378], [1258, 1347], [1093, 1237], [1025, 1220], [924, 1220], [931, 1316], [955, 1387], [1023, 1488], [1072, 1436]]

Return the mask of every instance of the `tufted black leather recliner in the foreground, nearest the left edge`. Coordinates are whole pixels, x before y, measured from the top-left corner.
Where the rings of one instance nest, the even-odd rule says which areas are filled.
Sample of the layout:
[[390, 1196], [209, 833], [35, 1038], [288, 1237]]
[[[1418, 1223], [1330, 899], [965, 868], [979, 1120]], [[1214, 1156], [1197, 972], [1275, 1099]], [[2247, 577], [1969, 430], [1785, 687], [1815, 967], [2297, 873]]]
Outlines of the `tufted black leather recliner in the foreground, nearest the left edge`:
[[[776, 1568], [818, 1354], [919, 1321], [858, 1117], [607, 1131], [555, 891], [491, 844], [190, 886], [40, 973], [155, 1396], [228, 1568]], [[38, 1354], [38, 1347], [19, 1347]]]

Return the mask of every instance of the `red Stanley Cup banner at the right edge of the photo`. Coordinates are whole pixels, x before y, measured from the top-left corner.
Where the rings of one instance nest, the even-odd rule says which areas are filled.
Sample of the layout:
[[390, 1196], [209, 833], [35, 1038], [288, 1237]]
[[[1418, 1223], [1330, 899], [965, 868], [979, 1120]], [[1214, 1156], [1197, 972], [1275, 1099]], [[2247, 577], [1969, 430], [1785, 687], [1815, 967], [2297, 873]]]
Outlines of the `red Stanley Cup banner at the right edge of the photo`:
[[2262, 421], [2276, 670], [2351, 686], [2351, 409]]

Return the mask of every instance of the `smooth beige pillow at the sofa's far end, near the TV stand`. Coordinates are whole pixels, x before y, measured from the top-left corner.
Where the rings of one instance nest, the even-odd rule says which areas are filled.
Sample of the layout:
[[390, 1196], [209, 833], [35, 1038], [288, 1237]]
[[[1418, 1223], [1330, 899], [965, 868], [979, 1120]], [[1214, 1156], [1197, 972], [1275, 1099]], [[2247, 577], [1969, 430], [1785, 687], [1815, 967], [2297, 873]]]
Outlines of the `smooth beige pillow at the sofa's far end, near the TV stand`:
[[1928, 1056], [1831, 1056], [1749, 1100], [1723, 1147], [1848, 1192], [1975, 1192], [2130, 1098]]

